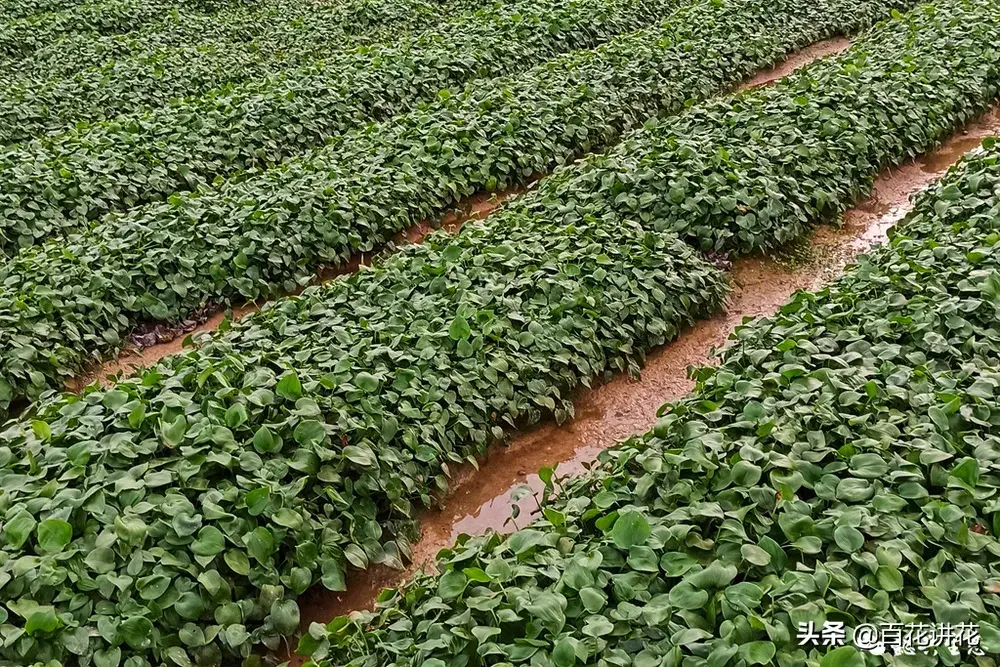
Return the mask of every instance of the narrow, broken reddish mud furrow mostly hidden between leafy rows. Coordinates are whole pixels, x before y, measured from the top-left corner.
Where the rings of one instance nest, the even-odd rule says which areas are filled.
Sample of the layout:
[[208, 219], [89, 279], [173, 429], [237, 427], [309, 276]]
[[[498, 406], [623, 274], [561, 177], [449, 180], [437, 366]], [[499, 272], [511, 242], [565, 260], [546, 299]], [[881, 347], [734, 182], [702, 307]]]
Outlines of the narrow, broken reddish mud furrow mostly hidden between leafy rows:
[[[786, 60], [775, 65], [774, 67], [762, 70], [749, 81], [737, 86], [735, 90], [746, 90], [770, 84], [791, 73], [793, 70], [811, 63], [814, 60], [835, 53], [840, 53], [850, 46], [850, 44], [850, 40], [844, 37], [834, 37], [822, 42], [817, 42], [816, 44], [812, 44], [801, 51], [791, 54]], [[533, 177], [530, 180], [530, 183], [533, 184], [537, 182], [541, 176], [542, 175], [537, 175]], [[530, 187], [531, 185], [528, 185], [511, 188], [502, 192], [483, 192], [476, 194], [469, 197], [452, 211], [449, 211], [447, 214], [442, 216], [440, 220], [426, 220], [409, 228], [405, 232], [398, 234], [388, 247], [398, 246], [403, 243], [419, 243], [424, 236], [438, 227], [457, 230], [465, 222], [470, 220], [480, 220], [486, 217], [493, 209], [498, 207], [504, 201], [524, 193], [526, 190], [530, 189]], [[322, 283], [339, 275], [356, 271], [359, 266], [368, 265], [372, 258], [377, 256], [379, 252], [358, 255], [346, 264], [320, 271], [316, 276], [314, 284]], [[70, 391], [80, 391], [83, 387], [89, 385], [95, 380], [100, 380], [102, 383], [108, 384], [111, 382], [111, 378], [118, 374], [127, 375], [135, 371], [137, 368], [156, 363], [168, 354], [175, 354], [182, 351], [184, 349], [184, 341], [187, 339], [188, 335], [215, 331], [219, 328], [219, 325], [222, 324], [227, 315], [232, 317], [234, 320], [238, 320], [248, 313], [256, 312], [260, 309], [261, 305], [262, 304], [255, 303], [243, 304], [236, 308], [232, 308], [229, 313], [223, 310], [210, 310], [200, 320], [188, 320], [179, 325], [156, 326], [149, 332], [144, 332], [138, 335], [133, 334], [133, 342], [129, 344], [117, 356], [117, 358], [96, 366], [88, 373], [69, 380], [66, 383], [66, 386]], [[149, 342], [152, 342], [152, 344], [149, 344]]]

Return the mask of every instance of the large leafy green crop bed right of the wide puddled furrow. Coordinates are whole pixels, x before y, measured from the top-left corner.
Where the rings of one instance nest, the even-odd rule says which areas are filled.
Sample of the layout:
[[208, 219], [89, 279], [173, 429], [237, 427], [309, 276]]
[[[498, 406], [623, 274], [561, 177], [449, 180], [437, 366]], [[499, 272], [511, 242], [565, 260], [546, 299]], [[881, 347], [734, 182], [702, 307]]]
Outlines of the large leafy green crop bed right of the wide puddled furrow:
[[848, 640], [978, 623], [980, 657], [919, 664], [995, 664], [1000, 150], [917, 208], [832, 286], [738, 328], [543, 520], [460, 539], [377, 613], [314, 625], [307, 666], [896, 664], [796, 640], [827, 621]]

